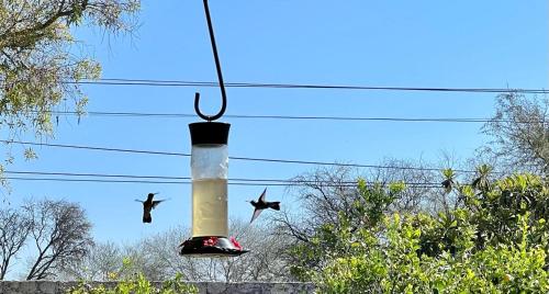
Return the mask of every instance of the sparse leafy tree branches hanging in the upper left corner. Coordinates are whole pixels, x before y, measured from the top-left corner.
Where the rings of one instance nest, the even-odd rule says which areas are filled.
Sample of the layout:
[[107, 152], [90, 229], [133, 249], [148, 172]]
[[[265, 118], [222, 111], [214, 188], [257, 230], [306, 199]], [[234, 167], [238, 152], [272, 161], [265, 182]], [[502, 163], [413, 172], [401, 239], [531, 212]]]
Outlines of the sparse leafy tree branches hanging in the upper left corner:
[[[53, 136], [53, 112], [83, 113], [78, 82], [98, 79], [99, 63], [78, 52], [77, 25], [131, 33], [138, 0], [0, 1], [0, 129]], [[33, 158], [25, 154], [26, 158]]]

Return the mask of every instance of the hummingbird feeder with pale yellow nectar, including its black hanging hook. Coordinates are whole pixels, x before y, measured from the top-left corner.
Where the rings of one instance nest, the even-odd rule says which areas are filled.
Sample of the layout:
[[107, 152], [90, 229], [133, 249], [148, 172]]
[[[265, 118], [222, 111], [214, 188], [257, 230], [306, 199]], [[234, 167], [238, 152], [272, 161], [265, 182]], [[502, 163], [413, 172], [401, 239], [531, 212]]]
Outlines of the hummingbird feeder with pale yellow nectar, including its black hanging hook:
[[194, 257], [232, 257], [247, 252], [235, 238], [228, 238], [227, 123], [213, 122], [225, 113], [226, 94], [213, 34], [208, 0], [203, 0], [213, 56], [220, 81], [222, 108], [215, 115], [200, 111], [200, 93], [194, 95], [194, 111], [206, 122], [189, 124], [191, 133], [192, 237], [182, 244], [180, 253]]

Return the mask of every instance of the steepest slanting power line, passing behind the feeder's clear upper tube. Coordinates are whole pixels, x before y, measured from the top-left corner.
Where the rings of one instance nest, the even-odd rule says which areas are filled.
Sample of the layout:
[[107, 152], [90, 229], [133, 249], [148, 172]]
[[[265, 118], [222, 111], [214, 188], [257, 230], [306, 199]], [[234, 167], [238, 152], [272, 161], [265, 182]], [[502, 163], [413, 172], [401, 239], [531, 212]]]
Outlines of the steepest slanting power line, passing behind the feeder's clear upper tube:
[[[74, 149], [88, 149], [98, 151], [115, 151], [115, 152], [131, 152], [131, 154], [147, 154], [147, 155], [163, 155], [163, 156], [179, 156], [179, 157], [190, 157], [190, 154], [183, 152], [167, 152], [167, 151], [153, 151], [153, 150], [137, 150], [137, 149], [122, 149], [122, 148], [109, 148], [109, 147], [93, 147], [93, 146], [81, 146], [81, 145], [65, 145], [65, 144], [48, 144], [48, 143], [33, 143], [33, 142], [22, 142], [22, 140], [0, 140], [0, 143], [5, 144], [22, 144], [31, 146], [47, 146], [47, 147], [58, 147], [58, 148], [74, 148]], [[335, 163], [326, 161], [306, 161], [306, 160], [289, 160], [289, 159], [273, 159], [273, 158], [253, 158], [253, 157], [228, 157], [233, 160], [243, 161], [261, 161], [261, 162], [274, 162], [274, 163], [294, 163], [294, 165], [314, 165], [314, 166], [333, 166], [333, 167], [350, 167], [350, 168], [378, 168], [378, 169], [397, 169], [397, 170], [423, 170], [423, 171], [440, 171], [438, 168], [422, 168], [422, 167], [402, 167], [402, 166], [381, 166], [381, 165], [360, 165], [360, 163]], [[455, 169], [456, 172], [474, 173], [473, 170], [462, 170]]]

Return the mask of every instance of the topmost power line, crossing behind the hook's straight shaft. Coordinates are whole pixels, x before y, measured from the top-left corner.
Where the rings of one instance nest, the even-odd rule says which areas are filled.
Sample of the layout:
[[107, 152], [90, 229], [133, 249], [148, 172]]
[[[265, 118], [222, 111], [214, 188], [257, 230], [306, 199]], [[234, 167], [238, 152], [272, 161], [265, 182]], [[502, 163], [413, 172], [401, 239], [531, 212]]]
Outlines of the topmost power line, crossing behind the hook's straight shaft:
[[[109, 84], [109, 86], [149, 86], [149, 87], [219, 87], [212, 81], [182, 81], [157, 79], [104, 78], [98, 80], [64, 81], [64, 83]], [[271, 89], [327, 89], [327, 90], [378, 90], [378, 91], [426, 91], [426, 92], [469, 92], [469, 93], [549, 93], [545, 89], [503, 89], [503, 88], [436, 88], [436, 87], [374, 87], [346, 84], [299, 84], [299, 83], [259, 83], [225, 82], [228, 88], [271, 88]]]

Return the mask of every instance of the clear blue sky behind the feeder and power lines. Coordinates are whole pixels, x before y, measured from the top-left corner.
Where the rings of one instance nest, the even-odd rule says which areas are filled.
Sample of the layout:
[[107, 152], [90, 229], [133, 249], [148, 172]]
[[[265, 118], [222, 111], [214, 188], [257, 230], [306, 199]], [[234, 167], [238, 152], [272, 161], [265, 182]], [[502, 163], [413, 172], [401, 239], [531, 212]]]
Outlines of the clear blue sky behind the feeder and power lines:
[[[221, 1], [211, 0], [227, 82], [388, 87], [548, 88], [549, 9], [531, 1]], [[78, 33], [102, 63], [103, 78], [215, 81], [202, 1], [143, 1], [137, 36], [107, 42]], [[89, 111], [193, 113], [219, 108], [219, 89], [88, 86]], [[394, 117], [489, 117], [494, 94], [227, 89], [227, 114]], [[49, 143], [190, 152], [197, 118], [60, 120]], [[485, 138], [480, 124], [222, 120], [232, 124], [229, 154], [379, 163], [384, 157], [437, 162], [441, 151], [467, 158]], [[33, 139], [29, 137], [29, 139]], [[36, 148], [11, 170], [190, 176], [189, 159]], [[231, 178], [288, 179], [311, 166], [231, 161]], [[190, 224], [190, 185], [12, 182], [12, 205], [34, 196], [79, 202], [98, 240], [131, 242]], [[136, 197], [170, 197], [141, 223]], [[229, 215], [248, 218], [262, 186], [231, 186]], [[294, 207], [283, 189], [268, 199]]]

